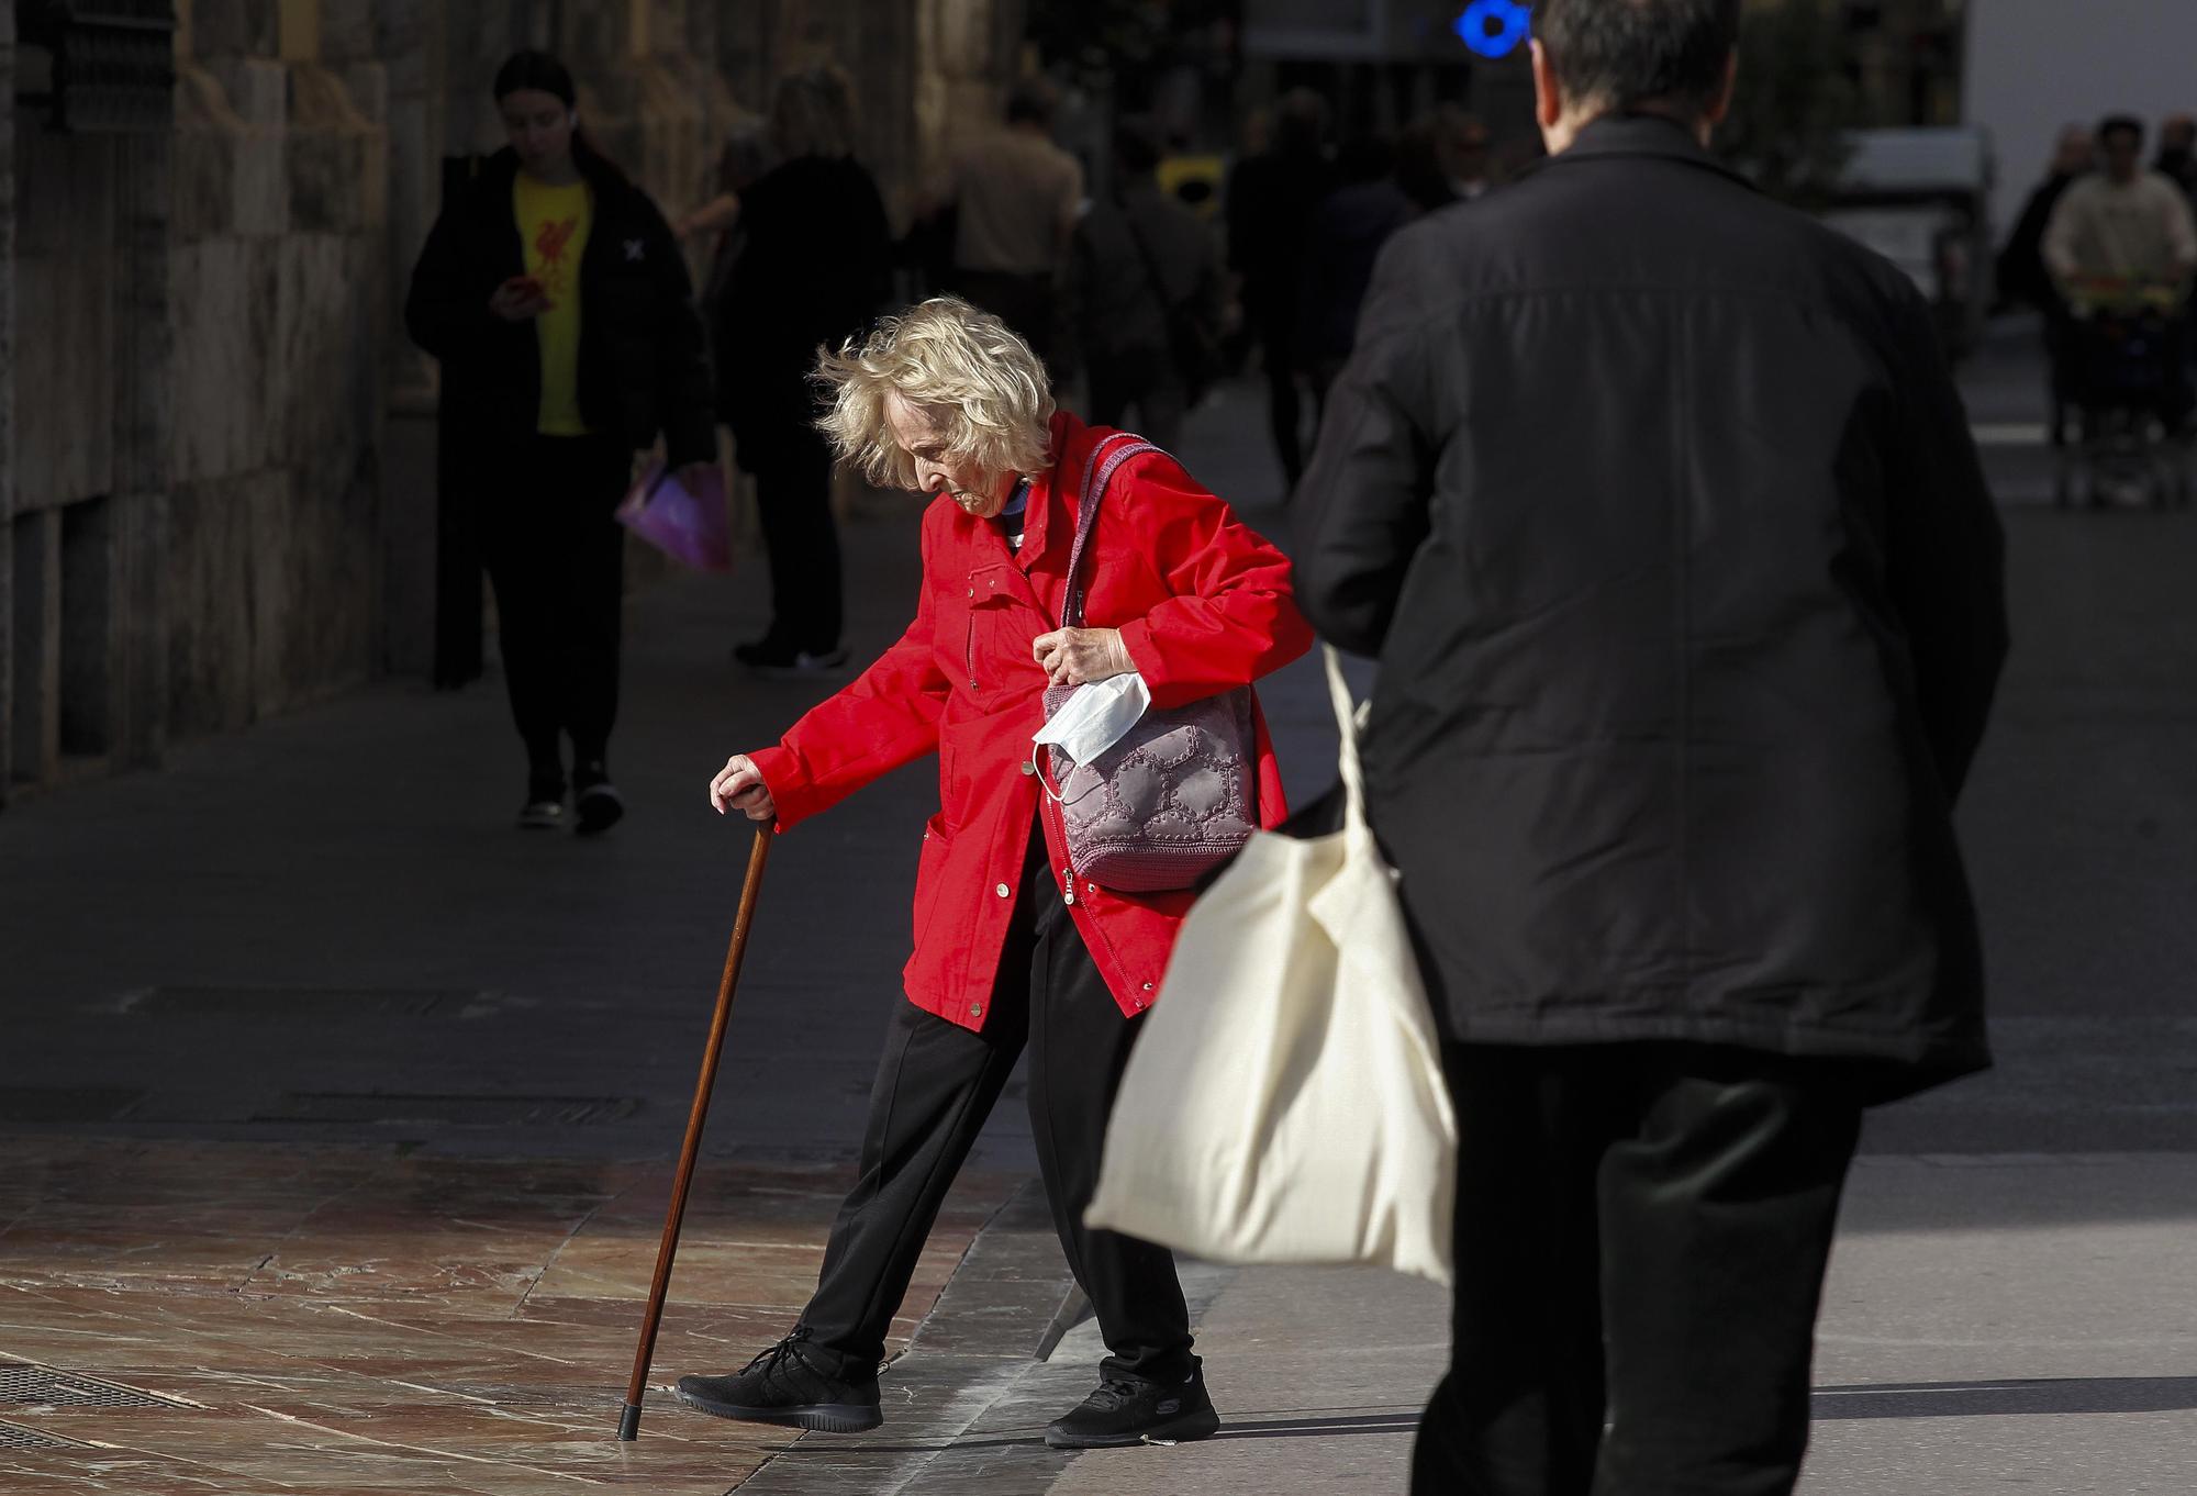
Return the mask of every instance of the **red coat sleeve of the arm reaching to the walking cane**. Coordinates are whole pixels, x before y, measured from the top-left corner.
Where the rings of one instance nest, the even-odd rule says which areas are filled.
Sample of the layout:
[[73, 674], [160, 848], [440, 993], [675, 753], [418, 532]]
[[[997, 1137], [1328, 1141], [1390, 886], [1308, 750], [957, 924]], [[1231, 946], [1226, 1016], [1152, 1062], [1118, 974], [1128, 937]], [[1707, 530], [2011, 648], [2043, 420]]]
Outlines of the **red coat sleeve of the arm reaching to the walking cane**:
[[932, 652], [929, 558], [932, 527], [925, 525], [916, 619], [877, 663], [793, 723], [778, 747], [751, 756], [778, 804], [780, 830], [938, 747], [938, 718], [951, 683]]

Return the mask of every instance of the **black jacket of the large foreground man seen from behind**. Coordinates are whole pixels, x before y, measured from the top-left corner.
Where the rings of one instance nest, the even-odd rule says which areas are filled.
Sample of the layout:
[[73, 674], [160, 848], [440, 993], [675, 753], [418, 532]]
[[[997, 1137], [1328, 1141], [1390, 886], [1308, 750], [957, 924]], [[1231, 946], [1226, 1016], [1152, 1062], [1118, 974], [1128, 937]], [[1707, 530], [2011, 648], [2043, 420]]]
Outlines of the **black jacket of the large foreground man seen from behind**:
[[1599, 121], [1395, 235], [1298, 510], [1448, 1035], [1988, 1063], [2001, 540], [1889, 264]]

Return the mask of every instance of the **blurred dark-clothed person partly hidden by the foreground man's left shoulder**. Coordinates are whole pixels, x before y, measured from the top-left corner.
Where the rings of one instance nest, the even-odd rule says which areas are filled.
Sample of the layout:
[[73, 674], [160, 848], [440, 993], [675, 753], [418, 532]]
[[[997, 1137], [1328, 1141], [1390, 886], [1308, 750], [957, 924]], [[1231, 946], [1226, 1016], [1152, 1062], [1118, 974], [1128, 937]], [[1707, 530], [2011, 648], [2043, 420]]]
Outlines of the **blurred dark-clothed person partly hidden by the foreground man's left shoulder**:
[[[1404, 187], [1406, 171], [1419, 189], [1419, 200]], [[1336, 174], [1342, 187], [1312, 215], [1296, 292], [1296, 356], [1312, 382], [1316, 428], [1327, 424], [1327, 387], [1351, 356], [1358, 308], [1373, 281], [1373, 261], [1382, 246], [1424, 211], [1421, 200], [1452, 200], [1448, 185], [1432, 171], [1426, 132], [1413, 141], [1408, 156], [1380, 136], [1349, 141], [1336, 154]]]

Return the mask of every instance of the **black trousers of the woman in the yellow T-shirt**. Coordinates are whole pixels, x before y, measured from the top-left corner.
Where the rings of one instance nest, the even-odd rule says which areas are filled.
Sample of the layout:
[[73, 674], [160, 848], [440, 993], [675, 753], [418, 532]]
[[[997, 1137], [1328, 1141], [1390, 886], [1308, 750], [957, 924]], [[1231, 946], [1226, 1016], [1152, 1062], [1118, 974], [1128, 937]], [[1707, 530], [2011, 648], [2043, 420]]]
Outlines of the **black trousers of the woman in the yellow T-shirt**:
[[613, 518], [633, 455], [611, 437], [534, 437], [483, 466], [488, 580], [512, 718], [538, 789], [600, 762], [617, 721], [626, 532]]

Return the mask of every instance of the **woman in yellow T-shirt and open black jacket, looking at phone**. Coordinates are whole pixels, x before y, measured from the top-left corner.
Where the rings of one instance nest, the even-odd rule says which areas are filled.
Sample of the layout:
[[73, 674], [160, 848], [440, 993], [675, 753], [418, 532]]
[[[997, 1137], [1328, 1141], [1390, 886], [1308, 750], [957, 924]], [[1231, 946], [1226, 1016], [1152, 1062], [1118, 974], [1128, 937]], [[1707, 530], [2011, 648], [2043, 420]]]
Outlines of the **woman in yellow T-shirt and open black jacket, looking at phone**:
[[666, 437], [685, 481], [716, 466], [710, 369], [685, 261], [639, 187], [580, 127], [571, 72], [497, 72], [510, 145], [450, 202], [413, 268], [404, 325], [442, 360], [442, 439], [464, 455], [497, 589], [503, 674], [527, 751], [518, 824], [624, 815], [611, 782], [624, 529], [635, 448]]

